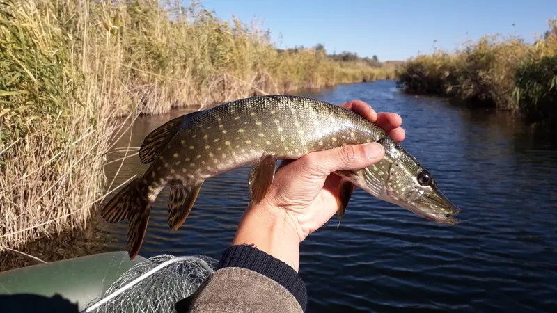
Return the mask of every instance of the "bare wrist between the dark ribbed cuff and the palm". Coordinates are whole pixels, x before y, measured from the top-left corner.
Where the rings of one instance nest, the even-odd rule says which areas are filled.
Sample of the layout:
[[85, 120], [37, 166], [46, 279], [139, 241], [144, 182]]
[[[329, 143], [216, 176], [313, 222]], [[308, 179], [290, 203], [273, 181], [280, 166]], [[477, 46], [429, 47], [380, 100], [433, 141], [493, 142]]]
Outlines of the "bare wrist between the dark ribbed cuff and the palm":
[[259, 204], [246, 210], [234, 245], [254, 245], [298, 271], [299, 225], [281, 208]]

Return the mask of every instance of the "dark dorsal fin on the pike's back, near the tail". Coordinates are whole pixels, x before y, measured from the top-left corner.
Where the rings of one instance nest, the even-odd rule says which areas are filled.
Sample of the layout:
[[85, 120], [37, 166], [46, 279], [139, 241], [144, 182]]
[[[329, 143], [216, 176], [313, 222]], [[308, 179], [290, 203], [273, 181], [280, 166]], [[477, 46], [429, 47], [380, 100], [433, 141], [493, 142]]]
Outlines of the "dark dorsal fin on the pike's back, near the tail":
[[178, 118], [174, 118], [173, 120], [169, 120], [168, 122], [164, 123], [163, 125], [157, 127], [153, 131], [148, 134], [145, 139], [143, 139], [143, 143], [141, 144], [141, 149], [139, 149], [139, 159], [141, 163], [148, 164], [151, 163], [155, 157], [161, 152], [162, 148], [164, 148], [168, 141], [176, 134], [180, 124], [183, 121], [192, 118], [198, 112], [192, 112], [186, 115], [179, 116]]

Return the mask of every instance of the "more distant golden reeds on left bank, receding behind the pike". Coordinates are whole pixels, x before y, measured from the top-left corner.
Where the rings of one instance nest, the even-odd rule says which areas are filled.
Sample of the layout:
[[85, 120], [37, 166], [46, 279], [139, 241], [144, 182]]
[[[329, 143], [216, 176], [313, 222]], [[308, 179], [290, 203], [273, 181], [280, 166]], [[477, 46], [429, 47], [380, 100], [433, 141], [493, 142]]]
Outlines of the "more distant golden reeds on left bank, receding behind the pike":
[[172, 105], [214, 104], [384, 76], [382, 69], [336, 62], [316, 49], [278, 51], [258, 24], [223, 21], [197, 3], [185, 8], [180, 1], [158, 2], [128, 1], [97, 14], [104, 17], [107, 40], [122, 55], [120, 75], [132, 79], [130, 89], [141, 99], [139, 108], [128, 106], [123, 113], [160, 113]]

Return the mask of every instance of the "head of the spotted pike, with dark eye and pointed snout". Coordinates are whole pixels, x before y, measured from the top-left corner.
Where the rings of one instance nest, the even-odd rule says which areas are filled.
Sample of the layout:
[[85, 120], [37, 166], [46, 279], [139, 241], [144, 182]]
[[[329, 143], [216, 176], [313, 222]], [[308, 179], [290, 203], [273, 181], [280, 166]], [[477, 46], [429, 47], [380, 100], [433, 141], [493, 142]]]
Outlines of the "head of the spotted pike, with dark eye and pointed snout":
[[385, 147], [385, 154], [363, 170], [363, 188], [368, 193], [437, 223], [460, 223], [452, 215], [461, 210], [441, 192], [429, 171], [391, 138], [377, 142]]

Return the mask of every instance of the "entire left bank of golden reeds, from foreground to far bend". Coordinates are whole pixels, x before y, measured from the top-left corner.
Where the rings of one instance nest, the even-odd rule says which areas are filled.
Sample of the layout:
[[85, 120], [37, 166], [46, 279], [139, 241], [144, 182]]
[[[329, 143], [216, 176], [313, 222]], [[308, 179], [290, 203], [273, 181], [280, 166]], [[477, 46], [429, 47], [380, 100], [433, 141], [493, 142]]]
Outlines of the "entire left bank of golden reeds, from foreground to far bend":
[[117, 117], [392, 73], [278, 51], [199, 3], [0, 0], [0, 248], [86, 227]]

